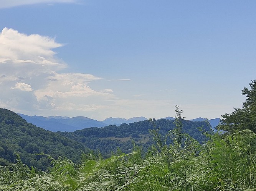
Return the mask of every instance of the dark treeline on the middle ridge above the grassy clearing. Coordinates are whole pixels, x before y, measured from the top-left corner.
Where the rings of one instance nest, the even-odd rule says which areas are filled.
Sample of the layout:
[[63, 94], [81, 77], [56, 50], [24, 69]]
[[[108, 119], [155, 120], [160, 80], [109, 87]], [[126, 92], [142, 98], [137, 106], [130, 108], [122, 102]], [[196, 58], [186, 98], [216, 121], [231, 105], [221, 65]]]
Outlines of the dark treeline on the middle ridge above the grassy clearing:
[[[154, 123], [152, 123], [154, 121]], [[140, 135], [149, 134], [149, 129], [159, 128], [162, 134], [165, 134], [167, 131], [175, 128], [175, 120], [145, 120], [139, 121], [135, 123], [123, 123], [120, 126], [109, 125], [103, 128], [91, 127], [85, 128], [82, 130], [77, 130], [74, 132], [58, 132], [59, 134], [63, 134], [70, 138], [77, 138], [80, 140], [83, 137], [97, 137], [97, 138], [124, 138], [124, 137], [134, 137], [138, 138]], [[205, 136], [201, 137], [201, 133], [198, 128], [202, 128], [205, 131], [211, 131], [210, 125], [206, 123], [206, 121], [186, 121], [182, 120], [183, 123], [183, 131], [184, 133], [190, 134], [198, 141], [205, 140]], [[133, 134], [133, 135], [132, 135]], [[79, 137], [79, 138], [78, 138]], [[80, 140], [81, 141], [81, 140]], [[83, 142], [83, 141], [81, 141]]]

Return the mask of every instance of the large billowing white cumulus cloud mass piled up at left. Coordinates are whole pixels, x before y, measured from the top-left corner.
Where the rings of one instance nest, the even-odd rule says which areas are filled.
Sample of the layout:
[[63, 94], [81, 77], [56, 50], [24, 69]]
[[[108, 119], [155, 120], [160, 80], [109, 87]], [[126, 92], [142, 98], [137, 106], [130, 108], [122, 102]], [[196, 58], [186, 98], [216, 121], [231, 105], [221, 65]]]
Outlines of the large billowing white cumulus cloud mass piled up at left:
[[104, 100], [114, 97], [110, 89], [96, 91], [89, 86], [100, 77], [59, 73], [68, 66], [53, 51], [63, 44], [51, 37], [4, 28], [0, 42], [0, 91], [5, 92], [0, 95], [0, 103], [5, 103], [6, 108], [89, 111], [101, 108]]

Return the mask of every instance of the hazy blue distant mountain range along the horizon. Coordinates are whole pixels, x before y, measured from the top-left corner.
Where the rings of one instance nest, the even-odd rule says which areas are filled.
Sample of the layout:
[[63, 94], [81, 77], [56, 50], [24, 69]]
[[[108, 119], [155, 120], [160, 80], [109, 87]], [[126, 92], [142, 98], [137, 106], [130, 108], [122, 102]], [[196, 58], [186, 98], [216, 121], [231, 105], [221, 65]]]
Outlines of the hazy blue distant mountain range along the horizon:
[[[21, 113], [17, 113], [23, 119], [25, 119], [28, 123], [32, 123], [38, 127], [44, 128], [46, 130], [50, 130], [53, 132], [56, 131], [67, 131], [73, 132], [76, 130], [90, 128], [90, 127], [104, 127], [108, 125], [117, 125], [120, 126], [122, 123], [135, 123], [138, 121], [147, 120], [145, 117], [133, 117], [129, 119], [125, 118], [107, 118], [103, 121], [97, 121], [88, 117], [78, 116], [78, 117], [62, 117], [62, 116], [49, 116], [49, 117], [42, 117], [42, 116], [28, 116]], [[174, 120], [174, 117], [165, 117], [162, 119], [166, 120]], [[196, 118], [190, 121], [205, 121], [206, 118]], [[219, 124], [220, 118], [208, 120], [211, 124], [213, 130]]]

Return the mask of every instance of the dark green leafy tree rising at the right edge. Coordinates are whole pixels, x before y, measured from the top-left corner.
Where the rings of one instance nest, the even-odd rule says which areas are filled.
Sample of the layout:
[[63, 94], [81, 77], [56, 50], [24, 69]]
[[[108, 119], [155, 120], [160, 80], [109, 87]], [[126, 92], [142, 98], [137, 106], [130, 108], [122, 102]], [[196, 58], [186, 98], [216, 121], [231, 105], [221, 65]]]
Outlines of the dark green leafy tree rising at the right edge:
[[246, 95], [242, 108], [234, 108], [234, 112], [222, 115], [223, 119], [218, 129], [224, 129], [230, 133], [243, 129], [256, 132], [256, 80], [252, 80], [249, 86], [251, 89], [244, 87], [242, 90], [242, 95]]

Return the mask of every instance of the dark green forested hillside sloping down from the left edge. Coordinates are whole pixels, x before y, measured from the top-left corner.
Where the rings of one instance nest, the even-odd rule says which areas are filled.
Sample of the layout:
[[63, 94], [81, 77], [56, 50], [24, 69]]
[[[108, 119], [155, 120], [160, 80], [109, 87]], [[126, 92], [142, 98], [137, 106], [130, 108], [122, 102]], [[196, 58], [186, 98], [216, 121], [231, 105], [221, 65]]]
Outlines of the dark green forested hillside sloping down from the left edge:
[[79, 142], [27, 123], [10, 110], [0, 109], [0, 165], [15, 162], [18, 153], [26, 165], [46, 170], [47, 157], [36, 154], [55, 158], [64, 155], [78, 162], [86, 151], [87, 147]]

